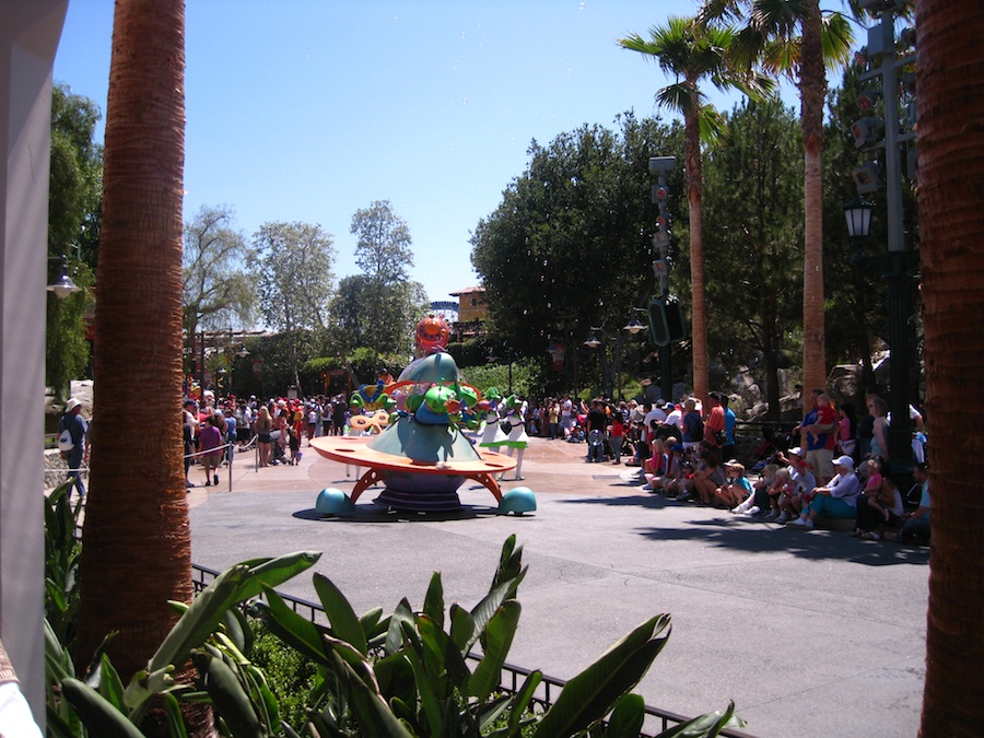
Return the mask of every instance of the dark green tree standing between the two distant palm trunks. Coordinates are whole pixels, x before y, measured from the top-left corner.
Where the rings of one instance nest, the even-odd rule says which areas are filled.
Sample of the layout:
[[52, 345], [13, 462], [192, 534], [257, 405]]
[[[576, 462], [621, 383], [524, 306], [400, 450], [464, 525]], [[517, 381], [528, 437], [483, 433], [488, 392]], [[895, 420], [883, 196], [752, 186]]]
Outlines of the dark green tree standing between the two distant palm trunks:
[[[736, 107], [727, 136], [708, 155], [705, 218], [713, 355], [764, 375], [769, 413], [778, 419], [778, 365], [798, 333], [803, 300], [803, 144], [780, 101]], [[733, 368], [733, 367], [729, 367]]]

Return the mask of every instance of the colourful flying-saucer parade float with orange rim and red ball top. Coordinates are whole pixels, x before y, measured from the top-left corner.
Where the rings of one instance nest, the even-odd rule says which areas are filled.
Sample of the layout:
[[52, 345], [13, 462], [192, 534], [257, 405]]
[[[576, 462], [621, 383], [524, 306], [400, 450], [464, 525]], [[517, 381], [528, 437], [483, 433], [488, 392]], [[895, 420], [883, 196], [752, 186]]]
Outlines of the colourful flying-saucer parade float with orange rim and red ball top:
[[[429, 316], [417, 327], [417, 359], [395, 382], [380, 376], [352, 396], [351, 423], [358, 435], [314, 438], [321, 456], [365, 469], [351, 494], [323, 490], [315, 508], [326, 515], [352, 514], [362, 494], [382, 484], [373, 502], [411, 512], [461, 508], [458, 489], [470, 480], [484, 487], [501, 513], [536, 509], [532, 492], [518, 488], [503, 493], [496, 476], [516, 468], [517, 460], [489, 447], [478, 447], [465, 434], [497, 414], [495, 403], [468, 385], [446, 352], [448, 327], [441, 316]], [[385, 418], [385, 419], [384, 419]], [[497, 426], [497, 420], [494, 421]], [[488, 423], [487, 423], [488, 425]]]

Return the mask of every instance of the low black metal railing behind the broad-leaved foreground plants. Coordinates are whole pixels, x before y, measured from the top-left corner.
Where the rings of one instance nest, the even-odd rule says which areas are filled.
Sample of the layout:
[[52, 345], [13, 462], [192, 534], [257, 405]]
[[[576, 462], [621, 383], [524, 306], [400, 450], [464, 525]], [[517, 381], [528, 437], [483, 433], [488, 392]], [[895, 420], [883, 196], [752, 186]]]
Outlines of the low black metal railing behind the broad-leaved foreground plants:
[[[214, 569], [191, 564], [191, 582], [195, 591], [199, 593], [204, 589], [221, 572], [218, 572]], [[280, 591], [277, 594], [280, 595], [283, 601], [286, 602], [294, 612], [305, 614], [311, 622], [320, 625], [328, 624], [328, 616], [325, 613], [325, 608], [318, 602], [312, 602], [302, 597], [294, 597]], [[480, 661], [482, 656], [481, 654], [469, 653], [466, 658], [471, 661]], [[532, 673], [532, 669], [526, 669], [522, 666], [508, 663], [503, 664], [502, 673], [499, 678], [499, 688], [507, 694], [515, 694], [523, 687], [530, 673]], [[530, 699], [530, 704], [543, 711], [548, 710], [565, 684], [566, 682], [563, 679], [557, 679], [555, 677], [550, 677], [546, 673], [542, 675], [540, 683], [537, 686], [537, 689], [534, 691], [534, 695]], [[646, 718], [643, 728], [644, 730], [652, 730], [653, 733], [640, 733], [640, 738], [654, 738], [654, 736], [659, 733], [691, 719], [686, 715], [679, 715], [649, 705], [646, 705], [645, 713]], [[733, 728], [722, 730], [719, 735], [726, 736], [726, 738], [753, 738], [751, 734]]]

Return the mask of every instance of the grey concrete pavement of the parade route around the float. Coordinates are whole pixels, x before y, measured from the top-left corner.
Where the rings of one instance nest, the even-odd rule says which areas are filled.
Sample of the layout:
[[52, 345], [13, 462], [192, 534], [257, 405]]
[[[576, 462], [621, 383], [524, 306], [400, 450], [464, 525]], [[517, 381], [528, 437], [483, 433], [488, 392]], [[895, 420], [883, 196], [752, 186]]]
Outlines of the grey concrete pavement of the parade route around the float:
[[[529, 573], [508, 660], [570, 679], [659, 612], [673, 632], [640, 692], [683, 715], [729, 700], [759, 736], [912, 736], [926, 655], [927, 549], [843, 532], [778, 528], [640, 490], [637, 470], [585, 464], [585, 446], [534, 438], [522, 482], [538, 509], [500, 516], [478, 485], [456, 515], [391, 514], [368, 490], [347, 519], [314, 511], [325, 487], [351, 491], [354, 468], [305, 445], [297, 467], [255, 469], [241, 454], [219, 488], [189, 493], [192, 555], [223, 569], [295, 550], [358, 612], [421, 607], [442, 573], [447, 605], [488, 590], [503, 540], [516, 534]], [[512, 472], [507, 472], [511, 477]], [[203, 481], [200, 469], [191, 479]], [[316, 600], [305, 573], [281, 587]]]

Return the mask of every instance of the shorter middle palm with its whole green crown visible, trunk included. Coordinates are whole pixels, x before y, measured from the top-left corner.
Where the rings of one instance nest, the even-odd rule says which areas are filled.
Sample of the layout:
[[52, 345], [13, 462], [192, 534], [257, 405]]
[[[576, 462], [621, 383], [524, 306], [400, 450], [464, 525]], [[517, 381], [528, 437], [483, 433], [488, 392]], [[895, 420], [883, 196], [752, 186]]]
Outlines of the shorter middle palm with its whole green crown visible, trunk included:
[[683, 160], [690, 226], [690, 280], [693, 292], [693, 390], [706, 401], [707, 317], [704, 298], [704, 249], [701, 234], [703, 199], [703, 155], [701, 138], [713, 140], [722, 130], [722, 118], [699, 84], [710, 80], [718, 90], [740, 87], [762, 95], [771, 90], [768, 81], [742, 73], [729, 63], [728, 47], [733, 31], [698, 23], [695, 19], [670, 17], [666, 25], [649, 30], [649, 38], [631, 34], [618, 44], [654, 59], [676, 82], [656, 93], [660, 107], [683, 116]]

